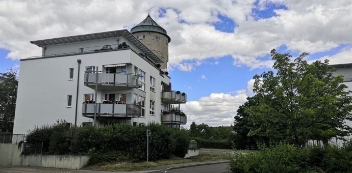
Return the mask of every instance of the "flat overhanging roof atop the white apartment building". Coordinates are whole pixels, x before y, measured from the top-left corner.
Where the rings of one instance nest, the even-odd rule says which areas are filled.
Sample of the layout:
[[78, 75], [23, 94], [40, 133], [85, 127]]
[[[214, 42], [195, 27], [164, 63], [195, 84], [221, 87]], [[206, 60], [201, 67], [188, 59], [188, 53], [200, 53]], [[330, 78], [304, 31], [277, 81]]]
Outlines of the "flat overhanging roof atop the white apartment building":
[[156, 63], [163, 62], [160, 59], [160, 57], [158, 57], [152, 50], [148, 49], [130, 31], [125, 29], [102, 32], [102, 33], [92, 33], [92, 34], [85, 34], [85, 35], [36, 40], [36, 41], [31, 41], [31, 43], [39, 47], [45, 47], [49, 45], [68, 44], [68, 43], [74, 43], [74, 42], [92, 41], [92, 40], [108, 39], [108, 38], [114, 38], [114, 37], [124, 37], [129, 42], [131, 42], [134, 46], [136, 46], [139, 50], [145, 53], [154, 62]]

